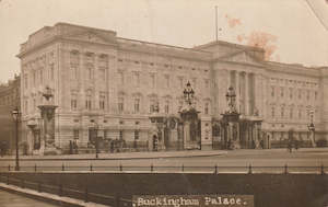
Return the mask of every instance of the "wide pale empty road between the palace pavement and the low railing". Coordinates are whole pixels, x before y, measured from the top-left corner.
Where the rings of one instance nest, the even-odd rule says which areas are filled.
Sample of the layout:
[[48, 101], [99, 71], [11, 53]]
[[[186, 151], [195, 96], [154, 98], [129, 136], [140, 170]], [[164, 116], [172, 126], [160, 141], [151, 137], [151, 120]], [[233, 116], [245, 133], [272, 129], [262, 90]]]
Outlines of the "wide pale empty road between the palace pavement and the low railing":
[[[152, 153], [152, 152], [147, 152]], [[131, 153], [131, 157], [133, 153]], [[104, 157], [104, 154], [103, 154]], [[47, 158], [47, 157], [44, 157]], [[83, 158], [83, 154], [81, 154]], [[102, 154], [99, 154], [102, 158]], [[1, 171], [7, 171], [12, 161], [1, 161]], [[328, 172], [327, 149], [300, 149], [288, 152], [286, 149], [271, 150], [235, 150], [215, 157], [192, 158], [160, 158], [160, 159], [125, 159], [125, 160], [28, 160], [21, 161], [21, 171], [160, 171], [160, 172], [247, 172], [251, 165], [253, 172], [320, 172], [325, 165]], [[122, 168], [120, 168], [120, 165]], [[153, 168], [151, 168], [153, 165]]]

